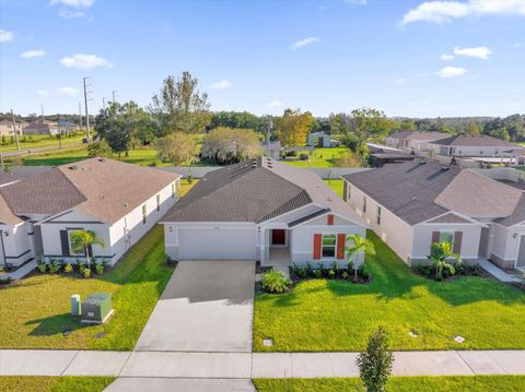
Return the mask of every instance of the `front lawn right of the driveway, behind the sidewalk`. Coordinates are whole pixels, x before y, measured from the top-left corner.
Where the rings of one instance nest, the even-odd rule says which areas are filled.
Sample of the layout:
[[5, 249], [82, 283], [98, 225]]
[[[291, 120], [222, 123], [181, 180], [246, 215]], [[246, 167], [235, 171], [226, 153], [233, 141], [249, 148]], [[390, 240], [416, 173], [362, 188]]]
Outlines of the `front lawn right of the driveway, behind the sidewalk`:
[[[254, 349], [362, 351], [378, 325], [388, 331], [393, 349], [525, 348], [524, 293], [474, 276], [424, 280], [370, 230], [369, 238], [377, 253], [368, 258], [370, 284], [310, 280], [289, 294], [258, 294]], [[456, 343], [457, 335], [465, 343]], [[273, 346], [262, 346], [267, 337]]]

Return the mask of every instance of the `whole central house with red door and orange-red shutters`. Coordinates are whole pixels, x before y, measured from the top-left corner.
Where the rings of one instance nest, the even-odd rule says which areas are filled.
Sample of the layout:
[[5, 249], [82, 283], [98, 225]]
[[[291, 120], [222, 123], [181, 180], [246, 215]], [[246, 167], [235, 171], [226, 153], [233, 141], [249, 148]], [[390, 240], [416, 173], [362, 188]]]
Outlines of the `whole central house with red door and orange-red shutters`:
[[[206, 175], [162, 219], [174, 260], [346, 264], [354, 213], [312, 171], [259, 157]], [[362, 262], [359, 256], [355, 262]]]

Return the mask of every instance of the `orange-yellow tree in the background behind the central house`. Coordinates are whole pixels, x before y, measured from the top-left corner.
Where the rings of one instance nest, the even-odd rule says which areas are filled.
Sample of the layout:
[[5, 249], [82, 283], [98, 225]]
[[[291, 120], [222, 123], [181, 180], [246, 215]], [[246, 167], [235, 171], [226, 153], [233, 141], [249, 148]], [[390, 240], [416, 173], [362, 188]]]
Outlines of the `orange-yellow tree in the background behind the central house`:
[[308, 132], [314, 123], [310, 111], [287, 109], [277, 120], [276, 131], [282, 145], [302, 146], [306, 144]]

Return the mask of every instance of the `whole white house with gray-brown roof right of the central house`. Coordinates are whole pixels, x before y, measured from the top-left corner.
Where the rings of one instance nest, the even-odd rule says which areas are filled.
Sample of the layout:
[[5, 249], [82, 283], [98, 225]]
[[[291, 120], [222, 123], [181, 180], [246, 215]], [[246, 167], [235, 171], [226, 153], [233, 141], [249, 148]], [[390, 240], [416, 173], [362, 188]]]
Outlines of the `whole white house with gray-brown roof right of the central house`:
[[523, 189], [431, 162], [342, 178], [343, 199], [408, 264], [425, 261], [433, 242], [452, 240], [464, 260], [525, 268]]

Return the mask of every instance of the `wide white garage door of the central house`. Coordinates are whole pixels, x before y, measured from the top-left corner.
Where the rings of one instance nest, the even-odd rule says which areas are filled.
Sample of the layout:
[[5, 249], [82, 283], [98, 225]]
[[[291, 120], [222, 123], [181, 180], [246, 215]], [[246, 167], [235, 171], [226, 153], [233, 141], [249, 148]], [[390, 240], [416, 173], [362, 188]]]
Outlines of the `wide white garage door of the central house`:
[[255, 236], [247, 228], [179, 228], [179, 259], [255, 260]]

